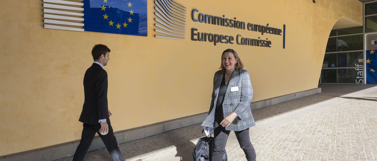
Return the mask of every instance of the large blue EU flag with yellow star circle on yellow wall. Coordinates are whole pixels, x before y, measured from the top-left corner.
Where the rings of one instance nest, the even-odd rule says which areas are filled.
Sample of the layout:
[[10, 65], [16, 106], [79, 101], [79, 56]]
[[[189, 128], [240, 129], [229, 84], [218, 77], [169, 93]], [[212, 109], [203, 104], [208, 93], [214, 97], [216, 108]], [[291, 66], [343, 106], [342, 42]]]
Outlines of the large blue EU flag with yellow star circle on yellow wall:
[[147, 36], [147, 1], [84, 0], [84, 30]]

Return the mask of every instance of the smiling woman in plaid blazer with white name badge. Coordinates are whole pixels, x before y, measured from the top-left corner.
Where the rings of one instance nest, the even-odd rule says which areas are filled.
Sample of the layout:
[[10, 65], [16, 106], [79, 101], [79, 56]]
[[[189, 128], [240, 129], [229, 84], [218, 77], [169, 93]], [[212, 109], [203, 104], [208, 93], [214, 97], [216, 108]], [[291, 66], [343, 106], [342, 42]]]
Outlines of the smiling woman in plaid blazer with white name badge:
[[248, 161], [256, 153], [250, 142], [249, 128], [255, 126], [250, 102], [253, 99], [249, 72], [236, 51], [222, 52], [221, 66], [213, 77], [211, 106], [202, 126], [214, 128], [211, 161], [222, 161], [230, 131], [234, 131]]

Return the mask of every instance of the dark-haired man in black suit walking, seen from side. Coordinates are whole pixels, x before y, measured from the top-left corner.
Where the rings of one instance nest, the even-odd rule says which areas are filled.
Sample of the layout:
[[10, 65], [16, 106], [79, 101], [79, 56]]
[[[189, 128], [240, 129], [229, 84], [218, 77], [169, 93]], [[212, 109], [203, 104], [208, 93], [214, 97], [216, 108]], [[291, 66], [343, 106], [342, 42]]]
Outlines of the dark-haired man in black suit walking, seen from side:
[[[80, 144], [73, 157], [74, 161], [84, 160], [96, 132], [100, 135], [113, 160], [124, 161], [110, 125], [111, 112], [107, 108], [107, 73], [103, 67], [110, 60], [109, 53], [110, 49], [102, 44], [97, 44], [92, 49], [94, 62], [85, 72], [85, 100], [79, 119], [84, 123], [84, 128]], [[101, 135], [101, 132], [108, 132], [108, 134]]]

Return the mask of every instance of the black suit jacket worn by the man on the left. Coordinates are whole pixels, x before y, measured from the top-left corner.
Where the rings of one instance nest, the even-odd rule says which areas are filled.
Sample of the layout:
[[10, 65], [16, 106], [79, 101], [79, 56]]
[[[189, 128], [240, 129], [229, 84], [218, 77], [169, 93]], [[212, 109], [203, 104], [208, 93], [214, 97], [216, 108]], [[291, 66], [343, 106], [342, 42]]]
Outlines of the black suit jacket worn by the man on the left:
[[105, 119], [110, 123], [107, 112], [107, 73], [101, 65], [93, 63], [84, 76], [84, 105], [79, 121], [86, 124], [98, 124]]

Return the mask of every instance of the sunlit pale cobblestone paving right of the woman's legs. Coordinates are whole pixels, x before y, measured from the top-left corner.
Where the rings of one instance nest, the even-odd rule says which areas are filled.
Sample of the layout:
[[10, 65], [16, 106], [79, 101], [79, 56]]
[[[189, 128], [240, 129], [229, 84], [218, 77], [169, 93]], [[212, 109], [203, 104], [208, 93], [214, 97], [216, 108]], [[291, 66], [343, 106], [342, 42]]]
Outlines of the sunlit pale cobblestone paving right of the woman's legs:
[[[377, 93], [253, 137], [259, 160], [377, 159]], [[242, 152], [232, 160], [242, 160]]]

